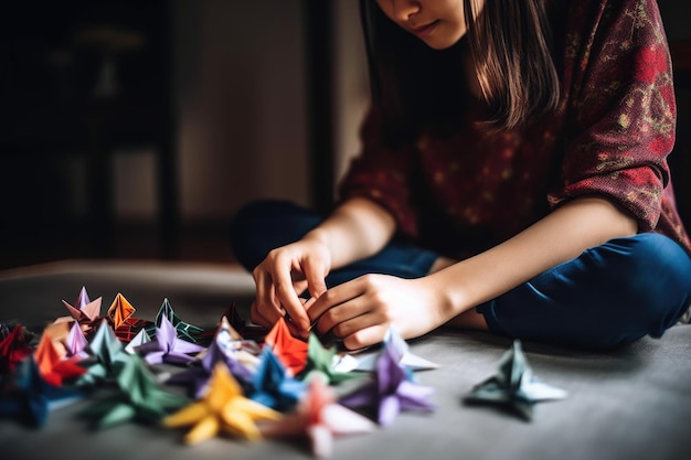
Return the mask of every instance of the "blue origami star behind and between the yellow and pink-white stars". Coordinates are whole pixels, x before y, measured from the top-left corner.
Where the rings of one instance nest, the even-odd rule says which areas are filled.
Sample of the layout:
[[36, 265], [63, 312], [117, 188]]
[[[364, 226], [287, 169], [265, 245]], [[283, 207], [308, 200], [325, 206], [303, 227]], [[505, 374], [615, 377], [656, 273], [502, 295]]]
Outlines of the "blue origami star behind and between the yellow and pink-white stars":
[[252, 378], [252, 399], [277, 410], [289, 410], [306, 389], [305, 383], [290, 376], [270, 349], [262, 351], [259, 367]]

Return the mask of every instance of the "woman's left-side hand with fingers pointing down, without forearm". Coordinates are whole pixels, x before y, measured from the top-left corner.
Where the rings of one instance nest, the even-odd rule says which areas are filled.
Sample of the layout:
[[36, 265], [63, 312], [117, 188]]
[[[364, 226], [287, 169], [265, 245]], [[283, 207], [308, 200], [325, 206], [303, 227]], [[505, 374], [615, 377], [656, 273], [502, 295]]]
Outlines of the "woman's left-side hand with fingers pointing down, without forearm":
[[256, 299], [251, 319], [270, 328], [281, 317], [288, 317], [288, 327], [296, 336], [307, 338], [310, 320], [305, 311], [306, 289], [312, 298], [327, 290], [325, 277], [330, 270], [328, 247], [316, 238], [276, 248], [255, 267], [252, 275], [256, 285]]

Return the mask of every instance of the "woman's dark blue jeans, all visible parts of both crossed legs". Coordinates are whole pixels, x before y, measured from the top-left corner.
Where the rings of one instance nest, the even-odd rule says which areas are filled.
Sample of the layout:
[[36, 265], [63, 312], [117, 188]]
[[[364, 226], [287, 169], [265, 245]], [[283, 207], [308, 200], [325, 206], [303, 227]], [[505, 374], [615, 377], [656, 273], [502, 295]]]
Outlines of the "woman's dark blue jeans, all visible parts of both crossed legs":
[[[286, 201], [249, 203], [231, 224], [231, 247], [247, 269], [293, 243], [322, 216]], [[438, 254], [392, 242], [379, 254], [333, 270], [327, 286], [364, 274], [427, 275]], [[491, 332], [517, 339], [610, 347], [659, 338], [691, 303], [691, 258], [653, 233], [615, 238], [477, 307]]]

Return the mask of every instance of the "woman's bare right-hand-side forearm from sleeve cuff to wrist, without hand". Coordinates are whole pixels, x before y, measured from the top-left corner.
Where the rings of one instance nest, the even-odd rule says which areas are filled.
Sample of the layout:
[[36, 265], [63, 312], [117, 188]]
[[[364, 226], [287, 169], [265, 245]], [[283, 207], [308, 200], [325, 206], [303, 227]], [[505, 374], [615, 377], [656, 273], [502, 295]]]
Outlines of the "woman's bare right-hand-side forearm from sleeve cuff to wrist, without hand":
[[507, 242], [429, 275], [425, 282], [443, 292], [439, 320], [444, 322], [588, 247], [636, 231], [636, 221], [607, 200], [577, 199]]

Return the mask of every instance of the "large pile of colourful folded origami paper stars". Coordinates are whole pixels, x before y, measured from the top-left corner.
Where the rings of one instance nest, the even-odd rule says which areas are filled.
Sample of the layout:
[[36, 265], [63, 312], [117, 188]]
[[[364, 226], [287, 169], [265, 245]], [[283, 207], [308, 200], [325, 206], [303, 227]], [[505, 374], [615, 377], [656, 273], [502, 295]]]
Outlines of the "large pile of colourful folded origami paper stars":
[[294, 338], [284, 320], [257, 330], [233, 306], [204, 330], [168, 299], [151, 321], [136, 318], [120, 293], [105, 315], [85, 288], [75, 304], [63, 303], [70, 314], [40, 333], [0, 325], [0, 416], [40, 428], [51, 410], [86, 399], [79, 416], [99, 429], [146, 422], [183, 430], [188, 445], [219, 435], [302, 437], [327, 457], [339, 436], [435, 409], [393, 330], [365, 362], [315, 334]]

